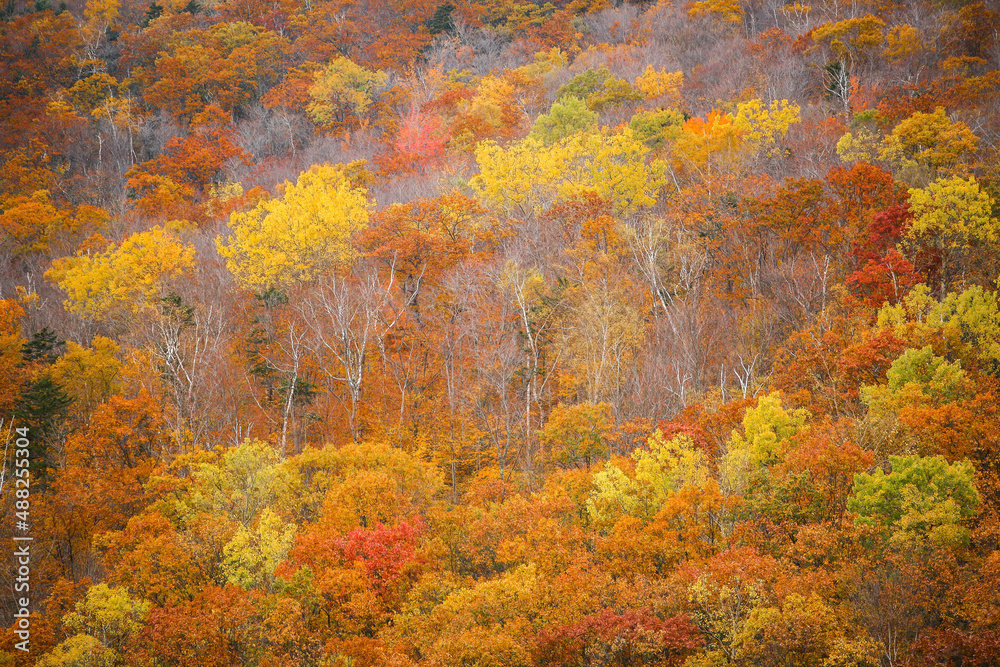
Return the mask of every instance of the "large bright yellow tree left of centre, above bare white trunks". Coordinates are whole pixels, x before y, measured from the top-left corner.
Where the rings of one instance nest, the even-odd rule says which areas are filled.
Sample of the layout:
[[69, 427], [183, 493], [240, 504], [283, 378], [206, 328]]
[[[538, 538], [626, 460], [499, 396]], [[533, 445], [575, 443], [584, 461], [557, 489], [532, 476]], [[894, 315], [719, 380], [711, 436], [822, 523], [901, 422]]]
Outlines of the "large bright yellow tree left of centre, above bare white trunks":
[[313, 165], [284, 195], [229, 221], [232, 236], [215, 243], [244, 288], [263, 292], [309, 281], [351, 256], [351, 235], [368, 224], [368, 191], [355, 187], [341, 165]]

